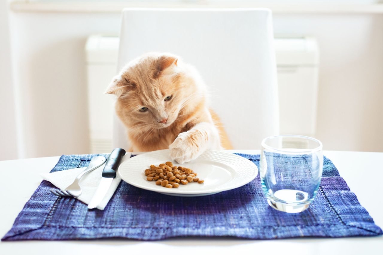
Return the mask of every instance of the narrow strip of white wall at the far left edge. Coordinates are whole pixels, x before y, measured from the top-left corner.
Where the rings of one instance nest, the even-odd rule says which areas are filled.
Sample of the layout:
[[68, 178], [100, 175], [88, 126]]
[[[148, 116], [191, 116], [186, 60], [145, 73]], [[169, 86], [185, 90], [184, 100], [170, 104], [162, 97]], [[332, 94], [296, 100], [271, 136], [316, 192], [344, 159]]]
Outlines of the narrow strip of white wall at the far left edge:
[[0, 0], [0, 160], [17, 158], [7, 0]]

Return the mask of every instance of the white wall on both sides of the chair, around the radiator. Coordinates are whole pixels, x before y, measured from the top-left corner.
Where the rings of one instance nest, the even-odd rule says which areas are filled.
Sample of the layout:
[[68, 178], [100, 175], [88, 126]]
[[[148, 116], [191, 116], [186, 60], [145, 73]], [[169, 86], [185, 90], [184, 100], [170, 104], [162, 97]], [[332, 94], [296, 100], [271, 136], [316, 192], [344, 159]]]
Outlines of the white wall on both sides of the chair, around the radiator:
[[[88, 152], [88, 35], [118, 34], [119, 14], [11, 13], [21, 157]], [[383, 15], [274, 15], [276, 34], [321, 50], [317, 135], [327, 150], [383, 151]], [[259, 145], [254, 145], [258, 149]]]

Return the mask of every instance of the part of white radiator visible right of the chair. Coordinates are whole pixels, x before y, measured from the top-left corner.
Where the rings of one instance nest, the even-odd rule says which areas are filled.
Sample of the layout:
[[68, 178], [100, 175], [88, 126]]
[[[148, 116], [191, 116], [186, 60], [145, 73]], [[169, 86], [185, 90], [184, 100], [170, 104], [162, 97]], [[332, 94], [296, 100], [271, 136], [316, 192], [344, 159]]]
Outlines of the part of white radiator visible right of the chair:
[[281, 134], [315, 135], [319, 50], [314, 38], [274, 39]]

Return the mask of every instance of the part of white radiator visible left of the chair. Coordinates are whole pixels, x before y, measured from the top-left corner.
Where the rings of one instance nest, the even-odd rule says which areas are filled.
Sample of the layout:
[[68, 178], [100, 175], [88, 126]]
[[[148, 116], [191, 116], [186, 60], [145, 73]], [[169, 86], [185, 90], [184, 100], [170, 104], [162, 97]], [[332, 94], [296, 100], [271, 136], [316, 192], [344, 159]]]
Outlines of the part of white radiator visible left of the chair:
[[116, 75], [118, 37], [90, 36], [86, 46], [90, 153], [112, 150], [113, 95], [104, 92]]

